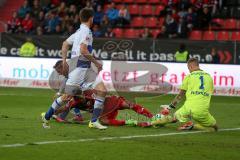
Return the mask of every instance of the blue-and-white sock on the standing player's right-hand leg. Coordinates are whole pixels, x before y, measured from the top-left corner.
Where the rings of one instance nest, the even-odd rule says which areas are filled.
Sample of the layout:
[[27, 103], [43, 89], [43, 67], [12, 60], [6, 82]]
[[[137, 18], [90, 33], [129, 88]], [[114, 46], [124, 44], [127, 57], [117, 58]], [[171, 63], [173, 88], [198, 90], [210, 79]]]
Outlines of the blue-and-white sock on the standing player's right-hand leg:
[[102, 113], [104, 98], [96, 98], [94, 102], [93, 116], [91, 122], [96, 122]]

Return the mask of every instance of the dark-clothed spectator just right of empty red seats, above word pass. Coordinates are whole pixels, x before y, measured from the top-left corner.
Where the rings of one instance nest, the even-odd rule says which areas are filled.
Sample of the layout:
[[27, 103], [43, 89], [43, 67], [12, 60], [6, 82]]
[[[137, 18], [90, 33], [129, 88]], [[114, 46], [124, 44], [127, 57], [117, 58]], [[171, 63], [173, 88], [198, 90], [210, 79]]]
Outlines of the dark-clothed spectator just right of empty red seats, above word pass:
[[168, 35], [168, 38], [177, 37], [177, 23], [171, 16], [171, 14], [168, 14], [166, 16], [165, 26], [166, 26], [166, 34]]

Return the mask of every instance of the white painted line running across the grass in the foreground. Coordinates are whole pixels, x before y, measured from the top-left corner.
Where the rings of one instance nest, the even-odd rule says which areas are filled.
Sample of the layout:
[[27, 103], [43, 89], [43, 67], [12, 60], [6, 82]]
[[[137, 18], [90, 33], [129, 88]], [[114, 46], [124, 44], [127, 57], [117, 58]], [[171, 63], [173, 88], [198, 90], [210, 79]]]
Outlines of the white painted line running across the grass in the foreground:
[[[237, 131], [237, 130], [240, 130], [240, 128], [220, 129], [218, 132]], [[197, 133], [206, 133], [206, 131], [172, 132], [172, 133], [149, 134], [149, 135], [102, 137], [102, 138], [88, 138], [88, 139], [76, 139], [76, 140], [59, 140], [59, 141], [43, 141], [43, 142], [33, 142], [33, 143], [16, 143], [16, 144], [0, 145], [0, 148], [13, 148], [13, 147], [24, 147], [24, 146], [30, 146], [30, 145], [45, 145], [45, 144], [56, 144], [56, 143], [78, 143], [78, 142], [106, 141], [106, 140], [118, 140], [118, 139], [124, 140], [124, 139], [146, 138], [146, 137], [164, 137], [164, 136], [186, 135], [186, 134], [197, 134]]]

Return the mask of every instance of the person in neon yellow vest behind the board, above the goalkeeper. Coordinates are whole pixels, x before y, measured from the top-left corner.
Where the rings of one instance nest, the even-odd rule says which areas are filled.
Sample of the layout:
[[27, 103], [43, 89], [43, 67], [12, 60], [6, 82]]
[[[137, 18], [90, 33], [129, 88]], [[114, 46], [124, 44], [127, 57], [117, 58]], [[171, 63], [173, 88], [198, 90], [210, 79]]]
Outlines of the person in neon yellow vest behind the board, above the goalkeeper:
[[189, 59], [189, 54], [186, 49], [186, 45], [184, 43], [181, 43], [179, 45], [178, 51], [175, 53], [175, 60], [176, 62], [187, 62]]

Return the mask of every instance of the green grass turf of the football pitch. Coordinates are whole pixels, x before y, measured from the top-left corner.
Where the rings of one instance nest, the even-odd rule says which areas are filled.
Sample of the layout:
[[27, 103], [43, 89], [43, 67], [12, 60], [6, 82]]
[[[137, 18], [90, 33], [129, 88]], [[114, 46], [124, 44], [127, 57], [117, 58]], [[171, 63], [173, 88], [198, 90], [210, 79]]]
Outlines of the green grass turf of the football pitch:
[[[0, 146], [3, 144], [28, 143], [16, 148], [0, 147], [0, 160], [206, 160], [240, 159], [240, 131], [198, 133], [134, 139], [114, 139], [77, 143], [34, 145], [33, 142], [75, 140], [101, 137], [118, 137], [172, 133], [176, 125], [164, 128], [109, 127], [105, 131], [89, 129], [86, 125], [58, 124], [51, 122], [51, 129], [43, 129], [40, 113], [52, 103], [54, 92], [44, 89], [0, 88]], [[134, 100], [142, 94], [126, 93]], [[168, 104], [173, 95], [153, 98], [137, 98], [156, 113], [159, 104]], [[239, 128], [240, 98], [213, 97], [211, 113], [220, 128]], [[120, 117], [133, 111], [121, 111]]]

